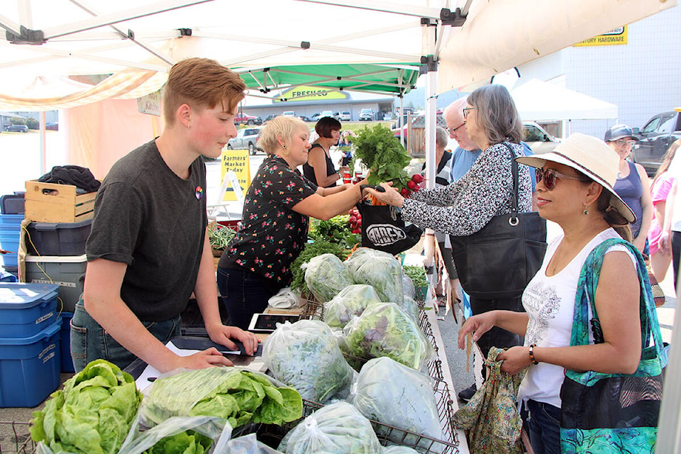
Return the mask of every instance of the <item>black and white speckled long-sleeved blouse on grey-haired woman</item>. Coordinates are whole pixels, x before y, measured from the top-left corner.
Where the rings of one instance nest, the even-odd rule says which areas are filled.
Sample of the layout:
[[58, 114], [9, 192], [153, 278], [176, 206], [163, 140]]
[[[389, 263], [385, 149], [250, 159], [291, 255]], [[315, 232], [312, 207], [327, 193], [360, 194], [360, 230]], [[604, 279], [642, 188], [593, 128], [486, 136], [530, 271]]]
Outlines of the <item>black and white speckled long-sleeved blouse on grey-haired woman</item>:
[[[515, 156], [524, 156], [523, 147], [508, 143]], [[529, 167], [518, 165], [518, 210], [532, 210], [532, 182]], [[479, 231], [494, 216], [511, 212], [513, 176], [511, 154], [504, 144], [492, 145], [458, 181], [448, 186], [421, 189], [402, 204], [402, 218], [421, 228], [454, 236]]]

